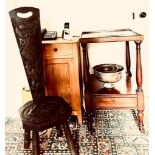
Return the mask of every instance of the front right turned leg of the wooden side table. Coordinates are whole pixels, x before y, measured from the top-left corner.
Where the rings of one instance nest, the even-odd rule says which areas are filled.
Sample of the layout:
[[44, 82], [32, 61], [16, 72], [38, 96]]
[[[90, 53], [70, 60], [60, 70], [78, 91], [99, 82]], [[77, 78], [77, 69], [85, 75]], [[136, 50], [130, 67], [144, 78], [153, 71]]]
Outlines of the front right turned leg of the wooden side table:
[[144, 119], [144, 93], [142, 89], [143, 77], [142, 77], [142, 64], [141, 64], [141, 41], [135, 41], [136, 43], [136, 83], [137, 83], [137, 95], [138, 95], [138, 122], [139, 130], [144, 131], [143, 119]]

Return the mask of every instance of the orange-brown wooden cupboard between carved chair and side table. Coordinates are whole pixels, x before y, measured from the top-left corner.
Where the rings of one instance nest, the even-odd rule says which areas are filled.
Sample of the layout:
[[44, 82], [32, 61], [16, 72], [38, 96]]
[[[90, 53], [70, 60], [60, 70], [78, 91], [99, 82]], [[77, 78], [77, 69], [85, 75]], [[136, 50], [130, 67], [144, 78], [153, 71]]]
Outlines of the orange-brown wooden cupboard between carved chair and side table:
[[79, 38], [43, 41], [46, 95], [62, 96], [72, 107], [72, 114], [82, 123], [80, 95]]

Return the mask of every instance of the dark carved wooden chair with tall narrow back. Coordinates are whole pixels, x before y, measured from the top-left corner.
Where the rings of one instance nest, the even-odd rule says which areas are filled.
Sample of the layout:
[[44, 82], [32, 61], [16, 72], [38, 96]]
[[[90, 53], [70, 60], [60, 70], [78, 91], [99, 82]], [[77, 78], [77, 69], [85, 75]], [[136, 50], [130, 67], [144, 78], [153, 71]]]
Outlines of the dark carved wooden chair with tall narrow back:
[[[31, 15], [21, 17], [26, 13]], [[39, 9], [20, 7], [9, 14], [33, 98], [19, 109], [24, 129], [24, 148], [29, 148], [32, 139], [33, 155], [39, 155], [39, 131], [55, 126], [58, 136], [62, 136], [63, 127], [70, 152], [77, 155], [67, 121], [72, 112], [71, 107], [62, 97], [44, 94]]]

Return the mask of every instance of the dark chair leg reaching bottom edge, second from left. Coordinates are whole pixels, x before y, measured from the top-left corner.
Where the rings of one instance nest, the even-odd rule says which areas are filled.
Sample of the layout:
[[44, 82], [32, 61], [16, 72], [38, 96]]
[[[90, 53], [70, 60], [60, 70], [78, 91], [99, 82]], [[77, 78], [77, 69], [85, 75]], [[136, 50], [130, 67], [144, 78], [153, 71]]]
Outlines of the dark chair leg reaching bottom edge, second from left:
[[32, 152], [33, 155], [40, 155], [39, 133], [37, 131], [32, 132]]

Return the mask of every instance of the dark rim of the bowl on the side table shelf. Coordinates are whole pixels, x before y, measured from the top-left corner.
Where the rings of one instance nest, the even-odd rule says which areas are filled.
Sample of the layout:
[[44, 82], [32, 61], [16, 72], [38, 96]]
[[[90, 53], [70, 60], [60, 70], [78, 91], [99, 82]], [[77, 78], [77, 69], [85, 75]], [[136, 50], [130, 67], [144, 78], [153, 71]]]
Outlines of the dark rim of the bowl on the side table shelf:
[[[98, 70], [96, 70], [96, 68], [98, 68], [98, 67], [100, 67], [100, 66], [104, 66], [104, 65], [111, 65], [111, 66], [116, 66], [117, 68], [118, 68], [118, 70], [116, 70], [116, 71], [113, 71], [113, 72], [100, 72], [100, 71], [98, 71]], [[120, 72], [120, 71], [122, 71], [124, 69], [124, 67], [123, 66], [121, 66], [121, 65], [118, 65], [118, 64], [99, 64], [99, 65], [95, 65], [94, 67], [93, 67], [93, 70], [95, 71], [95, 72], [99, 72], [99, 73], [117, 73], [117, 72]]]

